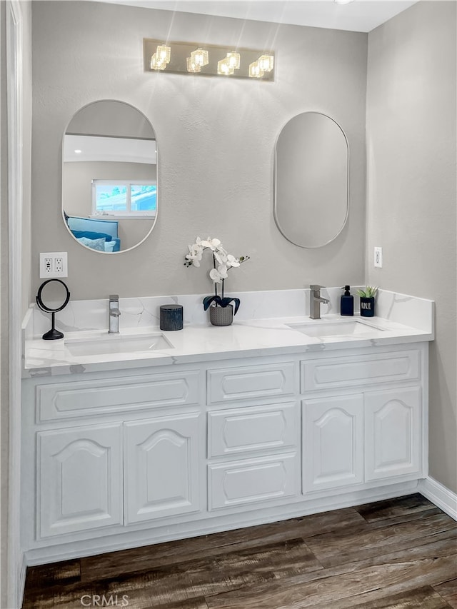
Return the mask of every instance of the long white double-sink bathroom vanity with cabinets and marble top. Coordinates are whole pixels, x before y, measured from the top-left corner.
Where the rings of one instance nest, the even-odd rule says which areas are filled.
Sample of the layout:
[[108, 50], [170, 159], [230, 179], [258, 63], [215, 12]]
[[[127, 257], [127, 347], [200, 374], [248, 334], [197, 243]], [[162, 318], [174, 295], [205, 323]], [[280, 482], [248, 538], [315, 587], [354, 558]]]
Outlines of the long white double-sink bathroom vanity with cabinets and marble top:
[[149, 353], [85, 355], [94, 331], [54, 346], [31, 337], [27, 563], [412, 493], [427, 473], [433, 340], [433, 303], [419, 306], [430, 315], [422, 328], [394, 321], [391, 308], [390, 319], [364, 326], [356, 316], [351, 328], [327, 313], [125, 331], [165, 341]]

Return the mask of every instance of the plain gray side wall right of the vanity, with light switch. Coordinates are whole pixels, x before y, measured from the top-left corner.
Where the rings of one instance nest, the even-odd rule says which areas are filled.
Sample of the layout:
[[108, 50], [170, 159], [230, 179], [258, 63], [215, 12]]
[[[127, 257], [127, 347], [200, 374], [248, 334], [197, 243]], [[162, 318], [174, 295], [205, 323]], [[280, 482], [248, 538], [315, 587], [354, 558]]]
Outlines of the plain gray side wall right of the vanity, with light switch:
[[457, 492], [455, 2], [420, 2], [369, 34], [367, 154], [367, 282], [436, 301], [430, 475]]

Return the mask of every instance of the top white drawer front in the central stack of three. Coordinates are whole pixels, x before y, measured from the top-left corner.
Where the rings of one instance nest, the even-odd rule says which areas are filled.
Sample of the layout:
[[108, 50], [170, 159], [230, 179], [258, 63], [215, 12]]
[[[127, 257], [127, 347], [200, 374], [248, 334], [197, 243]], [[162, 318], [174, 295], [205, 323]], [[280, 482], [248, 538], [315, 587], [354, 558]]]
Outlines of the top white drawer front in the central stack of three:
[[290, 396], [294, 391], [293, 362], [241, 366], [208, 371], [208, 403]]

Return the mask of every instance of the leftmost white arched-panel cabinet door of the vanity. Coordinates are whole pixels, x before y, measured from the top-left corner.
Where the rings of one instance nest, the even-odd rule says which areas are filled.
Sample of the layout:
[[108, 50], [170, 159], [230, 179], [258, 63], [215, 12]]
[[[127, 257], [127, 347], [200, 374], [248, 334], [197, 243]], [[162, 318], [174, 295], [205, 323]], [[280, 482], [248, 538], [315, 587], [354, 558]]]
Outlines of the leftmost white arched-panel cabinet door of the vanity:
[[37, 433], [40, 538], [122, 524], [121, 424]]

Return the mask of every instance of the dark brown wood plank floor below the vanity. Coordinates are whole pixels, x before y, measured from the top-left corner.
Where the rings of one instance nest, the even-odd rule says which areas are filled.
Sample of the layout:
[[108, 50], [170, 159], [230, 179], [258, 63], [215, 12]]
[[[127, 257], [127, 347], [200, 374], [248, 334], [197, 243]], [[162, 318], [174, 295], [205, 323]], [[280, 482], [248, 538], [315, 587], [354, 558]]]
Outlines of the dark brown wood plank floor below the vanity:
[[23, 609], [457, 609], [457, 523], [422, 495], [27, 570]]

